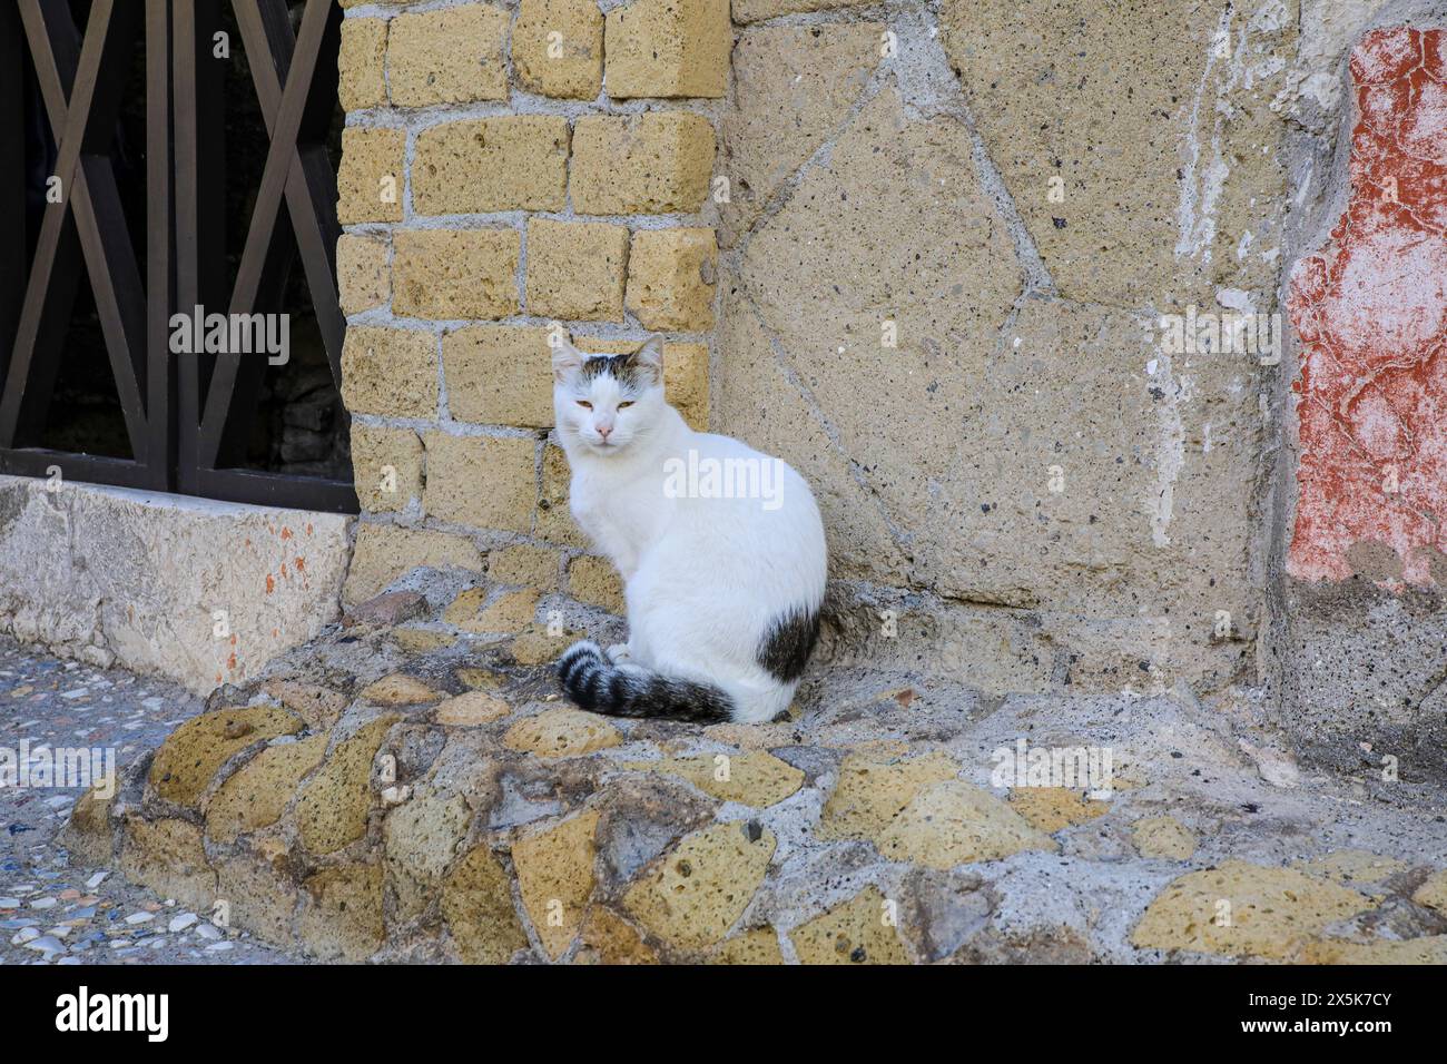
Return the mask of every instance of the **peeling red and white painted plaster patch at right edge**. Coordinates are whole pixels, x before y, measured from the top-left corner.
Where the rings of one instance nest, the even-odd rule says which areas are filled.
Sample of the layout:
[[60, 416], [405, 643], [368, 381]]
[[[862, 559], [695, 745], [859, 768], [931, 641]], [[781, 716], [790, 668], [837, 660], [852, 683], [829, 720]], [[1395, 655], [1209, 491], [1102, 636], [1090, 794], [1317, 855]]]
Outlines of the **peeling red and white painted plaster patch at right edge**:
[[1391, 546], [1428, 585], [1447, 553], [1447, 32], [1367, 33], [1351, 52], [1350, 197], [1292, 271], [1301, 455], [1286, 570], [1351, 575]]

